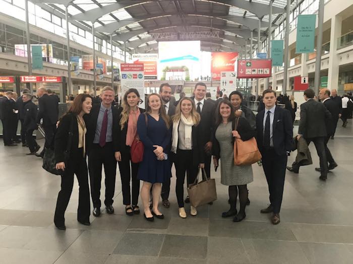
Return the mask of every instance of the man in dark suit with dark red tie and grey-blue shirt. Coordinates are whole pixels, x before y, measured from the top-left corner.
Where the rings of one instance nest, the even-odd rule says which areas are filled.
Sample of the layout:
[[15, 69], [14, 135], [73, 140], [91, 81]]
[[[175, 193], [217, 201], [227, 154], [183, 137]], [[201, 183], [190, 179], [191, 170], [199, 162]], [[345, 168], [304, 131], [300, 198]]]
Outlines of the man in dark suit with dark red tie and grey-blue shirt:
[[94, 104], [91, 112], [84, 116], [87, 133], [86, 145], [88, 170], [93, 202], [93, 215], [100, 216], [100, 187], [102, 165], [105, 174], [105, 209], [108, 214], [114, 213], [113, 197], [115, 191], [116, 161], [119, 149], [119, 113], [112, 106], [114, 90], [105, 86], [101, 93], [102, 102]]

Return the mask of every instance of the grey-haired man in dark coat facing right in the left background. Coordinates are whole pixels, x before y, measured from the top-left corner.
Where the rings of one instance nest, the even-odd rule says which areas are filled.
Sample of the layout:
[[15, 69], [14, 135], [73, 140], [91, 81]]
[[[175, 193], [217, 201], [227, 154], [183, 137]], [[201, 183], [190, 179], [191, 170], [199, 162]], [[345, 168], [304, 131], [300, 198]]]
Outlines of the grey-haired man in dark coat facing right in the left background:
[[23, 108], [24, 108], [24, 120], [23, 120], [23, 128], [25, 129], [26, 134], [26, 142], [29, 148], [29, 153], [27, 155], [35, 155], [37, 151], [40, 149], [40, 146], [37, 144], [37, 141], [33, 137], [33, 131], [38, 129], [37, 124], [37, 114], [38, 108], [32, 102], [32, 95], [26, 93], [22, 96], [23, 100]]

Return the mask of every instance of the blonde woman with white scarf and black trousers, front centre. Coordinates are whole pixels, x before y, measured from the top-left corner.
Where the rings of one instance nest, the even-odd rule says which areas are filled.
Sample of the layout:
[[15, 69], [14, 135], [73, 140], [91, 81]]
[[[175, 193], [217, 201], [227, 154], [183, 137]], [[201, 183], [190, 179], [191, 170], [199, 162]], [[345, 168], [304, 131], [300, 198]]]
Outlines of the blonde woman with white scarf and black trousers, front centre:
[[[179, 216], [186, 218], [184, 208], [184, 181], [187, 172], [187, 185], [195, 181], [197, 168], [204, 168], [204, 151], [200, 141], [200, 114], [196, 111], [192, 99], [184, 97], [180, 100], [173, 117], [171, 156], [173, 156], [175, 170], [177, 171], [177, 185], [175, 192], [179, 206]], [[190, 214], [197, 215], [195, 207], [190, 207]]]

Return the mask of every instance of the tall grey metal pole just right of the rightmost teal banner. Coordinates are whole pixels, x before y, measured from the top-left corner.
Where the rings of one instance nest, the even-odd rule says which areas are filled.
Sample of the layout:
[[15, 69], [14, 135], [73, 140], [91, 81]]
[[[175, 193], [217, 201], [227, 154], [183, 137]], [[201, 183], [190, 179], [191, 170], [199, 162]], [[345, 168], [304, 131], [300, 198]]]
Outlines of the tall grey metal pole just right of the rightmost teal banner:
[[314, 79], [314, 91], [315, 94], [319, 94], [320, 88], [320, 72], [321, 72], [321, 49], [322, 49], [322, 28], [324, 24], [324, 0], [319, 2], [319, 21], [318, 21], [318, 37], [316, 41], [316, 62], [315, 62], [315, 79]]

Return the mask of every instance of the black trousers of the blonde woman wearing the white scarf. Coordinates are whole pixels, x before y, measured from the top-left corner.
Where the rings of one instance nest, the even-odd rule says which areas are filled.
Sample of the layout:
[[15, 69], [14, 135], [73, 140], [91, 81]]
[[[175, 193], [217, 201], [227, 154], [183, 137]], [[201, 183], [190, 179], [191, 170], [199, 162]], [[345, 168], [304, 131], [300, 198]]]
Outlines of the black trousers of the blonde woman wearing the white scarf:
[[195, 181], [198, 168], [193, 162], [192, 150], [177, 150], [175, 161], [175, 170], [177, 171], [177, 184], [175, 185], [175, 192], [177, 193], [177, 200], [179, 208], [184, 207], [184, 181], [185, 172], [188, 173], [188, 185]]

